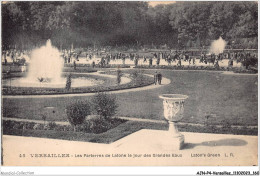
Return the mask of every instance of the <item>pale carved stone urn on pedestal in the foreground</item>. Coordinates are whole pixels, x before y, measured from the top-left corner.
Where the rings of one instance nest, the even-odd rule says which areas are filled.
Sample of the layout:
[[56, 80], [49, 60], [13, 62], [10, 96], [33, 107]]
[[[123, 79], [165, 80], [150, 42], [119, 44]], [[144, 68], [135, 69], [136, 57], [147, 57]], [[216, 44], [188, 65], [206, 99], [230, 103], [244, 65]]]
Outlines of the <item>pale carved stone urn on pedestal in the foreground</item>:
[[174, 150], [180, 150], [184, 144], [184, 136], [179, 133], [176, 126], [184, 112], [184, 101], [188, 98], [187, 95], [181, 94], [163, 94], [159, 96], [163, 99], [164, 117], [169, 123], [168, 137], [170, 147]]

